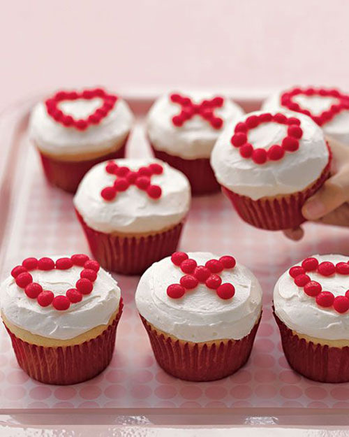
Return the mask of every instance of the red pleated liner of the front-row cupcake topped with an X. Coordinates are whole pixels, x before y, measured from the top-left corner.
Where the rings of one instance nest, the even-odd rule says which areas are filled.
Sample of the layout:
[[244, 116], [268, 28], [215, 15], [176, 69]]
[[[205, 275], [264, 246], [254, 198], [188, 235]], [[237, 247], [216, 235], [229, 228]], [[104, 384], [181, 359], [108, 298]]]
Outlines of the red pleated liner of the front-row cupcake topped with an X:
[[251, 354], [260, 319], [241, 340], [192, 343], [156, 331], [140, 316], [149, 335], [156, 361], [170, 375], [188, 381], [214, 381], [232, 375]]

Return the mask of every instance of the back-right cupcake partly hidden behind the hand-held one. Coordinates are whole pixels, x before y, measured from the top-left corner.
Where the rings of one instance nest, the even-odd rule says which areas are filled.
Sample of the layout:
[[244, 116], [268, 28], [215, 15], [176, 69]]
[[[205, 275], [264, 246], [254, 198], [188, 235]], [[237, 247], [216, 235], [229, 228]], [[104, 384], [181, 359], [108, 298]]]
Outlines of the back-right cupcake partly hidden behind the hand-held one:
[[294, 87], [273, 94], [262, 106], [280, 108], [308, 115], [326, 135], [349, 145], [349, 94], [334, 88]]

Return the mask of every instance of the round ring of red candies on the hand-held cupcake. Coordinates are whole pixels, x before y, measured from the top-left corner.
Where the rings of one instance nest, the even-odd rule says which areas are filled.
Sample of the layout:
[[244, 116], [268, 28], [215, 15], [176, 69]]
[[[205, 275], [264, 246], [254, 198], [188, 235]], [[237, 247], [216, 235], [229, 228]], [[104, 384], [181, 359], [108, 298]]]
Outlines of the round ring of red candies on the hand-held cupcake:
[[[281, 144], [274, 144], [268, 150], [263, 148], [255, 149], [251, 143], [248, 143], [248, 131], [258, 127], [263, 123], [279, 123], [288, 126], [287, 135], [283, 138]], [[285, 155], [285, 152], [295, 152], [299, 148], [299, 140], [303, 136], [303, 131], [299, 126], [300, 120], [296, 117], [286, 117], [284, 114], [262, 113], [260, 115], [250, 115], [244, 122], [237, 123], [235, 134], [231, 138], [231, 143], [235, 148], [239, 148], [240, 155], [245, 158], [251, 158], [255, 164], [265, 164], [267, 161], [279, 161]]]

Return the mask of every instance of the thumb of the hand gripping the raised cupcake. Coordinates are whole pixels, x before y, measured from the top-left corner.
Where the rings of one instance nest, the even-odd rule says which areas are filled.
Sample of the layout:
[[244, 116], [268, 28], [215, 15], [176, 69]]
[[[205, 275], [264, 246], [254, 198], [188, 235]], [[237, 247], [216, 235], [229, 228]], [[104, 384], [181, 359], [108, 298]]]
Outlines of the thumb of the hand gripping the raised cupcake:
[[329, 178], [302, 208], [307, 220], [318, 220], [341, 206], [349, 198], [349, 169]]

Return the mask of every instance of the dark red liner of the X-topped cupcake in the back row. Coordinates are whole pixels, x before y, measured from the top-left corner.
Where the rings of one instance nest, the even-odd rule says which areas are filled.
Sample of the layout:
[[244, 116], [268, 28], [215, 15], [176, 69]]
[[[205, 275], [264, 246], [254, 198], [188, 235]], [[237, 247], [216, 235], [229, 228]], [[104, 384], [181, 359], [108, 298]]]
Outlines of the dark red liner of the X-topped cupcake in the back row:
[[178, 169], [186, 175], [191, 184], [191, 192], [193, 195], [200, 196], [202, 194], [210, 194], [219, 191], [220, 185], [211, 168], [209, 158], [183, 159], [169, 155], [161, 150], [156, 150], [152, 145], [151, 148], [156, 158], [167, 162], [170, 166], [174, 167], [174, 169]]

